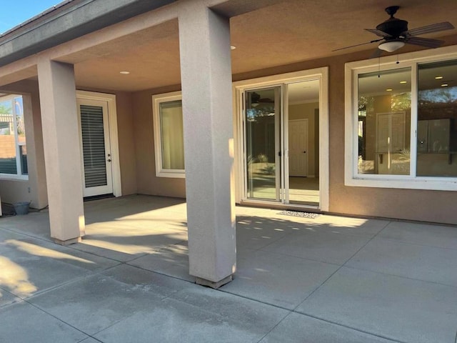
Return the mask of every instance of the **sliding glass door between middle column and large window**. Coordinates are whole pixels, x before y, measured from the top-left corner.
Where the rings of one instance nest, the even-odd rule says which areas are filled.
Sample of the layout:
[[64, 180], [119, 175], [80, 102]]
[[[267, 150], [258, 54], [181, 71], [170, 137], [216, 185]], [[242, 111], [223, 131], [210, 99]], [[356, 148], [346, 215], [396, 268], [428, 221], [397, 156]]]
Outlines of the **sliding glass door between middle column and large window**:
[[319, 81], [243, 91], [245, 199], [318, 207]]

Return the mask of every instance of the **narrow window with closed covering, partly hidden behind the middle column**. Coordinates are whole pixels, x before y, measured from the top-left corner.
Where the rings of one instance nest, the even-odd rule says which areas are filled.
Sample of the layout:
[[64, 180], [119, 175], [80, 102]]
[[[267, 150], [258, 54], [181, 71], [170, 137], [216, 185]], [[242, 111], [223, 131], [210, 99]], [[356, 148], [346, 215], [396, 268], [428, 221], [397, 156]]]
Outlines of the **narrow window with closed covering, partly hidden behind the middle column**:
[[184, 177], [181, 92], [153, 96], [157, 177]]

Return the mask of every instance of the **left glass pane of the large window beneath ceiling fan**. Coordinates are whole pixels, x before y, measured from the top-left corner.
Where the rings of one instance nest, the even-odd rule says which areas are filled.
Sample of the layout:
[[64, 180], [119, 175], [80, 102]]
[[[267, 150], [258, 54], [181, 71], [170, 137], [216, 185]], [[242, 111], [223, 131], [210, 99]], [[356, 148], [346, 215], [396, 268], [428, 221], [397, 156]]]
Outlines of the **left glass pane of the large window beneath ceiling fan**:
[[410, 68], [358, 75], [358, 123], [358, 174], [409, 175]]

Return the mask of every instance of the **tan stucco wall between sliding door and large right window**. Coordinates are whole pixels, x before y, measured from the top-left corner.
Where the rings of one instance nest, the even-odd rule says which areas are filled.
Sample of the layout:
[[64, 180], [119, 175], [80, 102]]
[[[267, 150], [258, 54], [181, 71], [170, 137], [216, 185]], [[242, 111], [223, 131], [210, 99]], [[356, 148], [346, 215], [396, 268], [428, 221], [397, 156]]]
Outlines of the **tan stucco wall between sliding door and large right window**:
[[344, 185], [344, 94], [346, 92], [344, 89], [344, 67], [346, 62], [367, 58], [366, 54], [356, 53], [303, 61], [288, 66], [234, 75], [233, 81], [328, 66], [329, 212], [457, 224], [457, 212], [455, 210], [457, 192], [346, 187]]

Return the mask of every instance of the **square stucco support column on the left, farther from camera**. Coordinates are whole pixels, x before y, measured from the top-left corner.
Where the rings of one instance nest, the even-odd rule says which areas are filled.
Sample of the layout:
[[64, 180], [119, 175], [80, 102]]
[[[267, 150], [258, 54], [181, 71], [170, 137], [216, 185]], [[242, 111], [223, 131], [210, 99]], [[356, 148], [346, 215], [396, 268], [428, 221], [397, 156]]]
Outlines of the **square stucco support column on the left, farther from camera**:
[[51, 237], [59, 244], [80, 242], [84, 207], [73, 65], [43, 59], [38, 80]]

